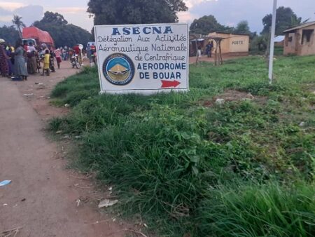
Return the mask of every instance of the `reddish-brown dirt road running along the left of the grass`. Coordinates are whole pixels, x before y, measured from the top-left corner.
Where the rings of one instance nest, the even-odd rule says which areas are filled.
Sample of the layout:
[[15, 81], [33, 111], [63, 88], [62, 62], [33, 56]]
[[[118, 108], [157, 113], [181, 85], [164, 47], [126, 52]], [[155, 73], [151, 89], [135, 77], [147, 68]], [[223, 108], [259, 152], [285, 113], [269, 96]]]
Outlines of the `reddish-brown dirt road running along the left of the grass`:
[[24, 82], [0, 78], [0, 182], [12, 180], [0, 187], [0, 233], [22, 227], [17, 236], [124, 236], [125, 226], [99, 213], [102, 193], [66, 170], [58, 144], [45, 137], [45, 120], [66, 112], [50, 107], [50, 90], [76, 73], [62, 67]]

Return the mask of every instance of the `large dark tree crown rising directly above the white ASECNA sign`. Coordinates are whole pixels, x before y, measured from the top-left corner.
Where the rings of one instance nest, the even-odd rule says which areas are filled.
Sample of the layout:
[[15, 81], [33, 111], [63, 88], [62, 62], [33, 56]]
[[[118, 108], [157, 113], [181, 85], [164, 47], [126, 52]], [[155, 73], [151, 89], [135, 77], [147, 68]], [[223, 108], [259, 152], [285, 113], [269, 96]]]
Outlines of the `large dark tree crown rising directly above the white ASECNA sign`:
[[183, 0], [90, 0], [87, 5], [94, 25], [178, 22], [176, 13], [188, 10]]

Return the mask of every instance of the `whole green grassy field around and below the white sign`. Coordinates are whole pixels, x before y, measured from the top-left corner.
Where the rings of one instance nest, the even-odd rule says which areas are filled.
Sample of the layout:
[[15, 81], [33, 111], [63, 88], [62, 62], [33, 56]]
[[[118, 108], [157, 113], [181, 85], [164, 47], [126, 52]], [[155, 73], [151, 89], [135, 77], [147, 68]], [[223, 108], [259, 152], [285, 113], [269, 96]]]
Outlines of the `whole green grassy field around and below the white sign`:
[[[314, 236], [315, 57], [274, 64], [272, 86], [263, 57], [247, 57], [193, 65], [189, 93], [151, 96], [98, 95], [85, 69], [52, 91], [72, 109], [50, 128], [82, 136], [80, 168], [112, 184], [149, 232]], [[227, 89], [255, 100], [204, 106]]]

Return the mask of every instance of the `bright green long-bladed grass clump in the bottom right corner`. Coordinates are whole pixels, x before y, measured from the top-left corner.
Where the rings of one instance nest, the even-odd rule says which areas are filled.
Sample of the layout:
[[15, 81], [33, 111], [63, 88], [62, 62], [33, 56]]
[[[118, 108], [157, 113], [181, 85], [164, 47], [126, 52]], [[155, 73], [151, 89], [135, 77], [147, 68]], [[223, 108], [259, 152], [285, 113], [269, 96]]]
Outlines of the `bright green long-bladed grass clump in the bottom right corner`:
[[315, 187], [218, 186], [200, 205], [200, 236], [314, 236]]

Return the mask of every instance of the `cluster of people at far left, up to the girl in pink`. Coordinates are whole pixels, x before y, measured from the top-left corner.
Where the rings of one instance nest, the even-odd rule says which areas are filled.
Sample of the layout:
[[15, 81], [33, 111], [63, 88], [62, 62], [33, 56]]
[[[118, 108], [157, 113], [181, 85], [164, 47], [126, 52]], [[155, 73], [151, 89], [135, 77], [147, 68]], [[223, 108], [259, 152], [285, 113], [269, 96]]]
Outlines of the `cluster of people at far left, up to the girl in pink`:
[[[0, 39], [0, 74], [1, 76], [13, 77], [15, 79], [27, 80], [29, 74], [41, 72], [49, 76], [55, 72], [55, 60], [60, 68], [61, 50], [53, 49], [44, 43], [41, 46], [34, 46], [34, 43], [18, 39], [15, 47]], [[41, 63], [43, 64], [41, 66]]]

